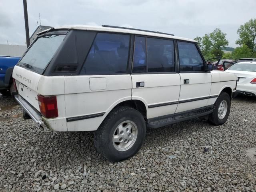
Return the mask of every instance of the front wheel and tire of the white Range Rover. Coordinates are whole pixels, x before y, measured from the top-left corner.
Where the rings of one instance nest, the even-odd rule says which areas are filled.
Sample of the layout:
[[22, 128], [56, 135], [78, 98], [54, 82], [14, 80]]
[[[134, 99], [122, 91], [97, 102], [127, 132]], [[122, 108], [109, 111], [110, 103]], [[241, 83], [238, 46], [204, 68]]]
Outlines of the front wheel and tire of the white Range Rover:
[[213, 112], [209, 115], [209, 122], [214, 125], [224, 124], [230, 114], [230, 96], [226, 92], [220, 93], [214, 103]]

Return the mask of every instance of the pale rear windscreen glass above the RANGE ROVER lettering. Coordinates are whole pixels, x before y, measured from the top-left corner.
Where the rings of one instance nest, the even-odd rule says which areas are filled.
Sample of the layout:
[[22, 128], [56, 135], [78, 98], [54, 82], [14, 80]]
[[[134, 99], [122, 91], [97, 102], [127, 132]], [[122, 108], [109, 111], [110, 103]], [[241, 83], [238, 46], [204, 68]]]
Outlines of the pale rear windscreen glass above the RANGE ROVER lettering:
[[42, 73], [65, 36], [63, 34], [51, 34], [38, 38], [19, 64]]

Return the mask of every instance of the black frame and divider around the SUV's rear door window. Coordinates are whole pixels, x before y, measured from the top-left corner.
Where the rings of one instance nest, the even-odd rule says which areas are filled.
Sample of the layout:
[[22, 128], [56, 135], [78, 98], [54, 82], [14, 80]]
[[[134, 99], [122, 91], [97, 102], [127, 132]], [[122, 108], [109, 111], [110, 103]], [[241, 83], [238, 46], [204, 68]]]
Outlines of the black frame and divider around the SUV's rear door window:
[[[138, 36], [138, 37], [143, 37], [145, 38], [145, 44], [146, 44], [146, 58], [147, 58], [147, 54], [148, 54], [148, 51], [147, 51], [147, 41], [146, 41], [146, 38], [155, 38], [155, 39], [163, 39], [163, 40], [171, 40], [173, 41], [173, 47], [174, 47], [174, 71], [173, 72], [132, 72], [132, 69], [133, 69], [133, 65], [134, 65], [134, 58], [132, 56], [132, 68], [131, 68], [131, 74], [133, 75], [136, 75], [136, 74], [176, 74], [177, 71], [177, 58], [176, 58], [176, 47], [175, 47], [175, 41], [176, 39], [172, 39], [172, 38], [164, 38], [164, 37], [157, 37], [157, 36], [148, 36], [148, 35], [140, 35], [140, 34], [134, 34], [134, 44], [133, 46], [135, 45], [135, 37]], [[134, 55], [134, 50], [135, 50], [135, 46], [133, 47], [133, 55]], [[146, 71], [148, 71], [148, 64], [146, 65]]]

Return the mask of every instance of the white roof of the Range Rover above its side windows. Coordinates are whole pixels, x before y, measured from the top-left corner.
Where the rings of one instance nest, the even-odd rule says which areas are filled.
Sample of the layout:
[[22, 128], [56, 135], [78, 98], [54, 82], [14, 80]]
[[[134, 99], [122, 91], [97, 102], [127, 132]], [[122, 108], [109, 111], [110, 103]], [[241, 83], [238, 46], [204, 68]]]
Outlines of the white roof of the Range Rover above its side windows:
[[[114, 27], [102, 27], [102, 26], [88, 26], [88, 25], [65, 25], [65, 26], [58, 26], [54, 27], [54, 29], [76, 29], [76, 30], [90, 30], [90, 31], [106, 31], [106, 32], [119, 32], [119, 33], [129, 33], [129, 34], [138, 34], [138, 35], [148, 35], [148, 36], [155, 36], [155, 37], [163, 37], [163, 38], [172, 38], [178, 40], [186, 40], [191, 42], [196, 42], [193, 39], [182, 38], [178, 36], [172, 36], [168, 34], [161, 34], [157, 32], [147, 32], [147, 31], [140, 31], [140, 30], [133, 30], [133, 29], [126, 29], [126, 28], [114, 28]], [[47, 32], [50, 29], [44, 30], [39, 32], [38, 34], [42, 34]]]

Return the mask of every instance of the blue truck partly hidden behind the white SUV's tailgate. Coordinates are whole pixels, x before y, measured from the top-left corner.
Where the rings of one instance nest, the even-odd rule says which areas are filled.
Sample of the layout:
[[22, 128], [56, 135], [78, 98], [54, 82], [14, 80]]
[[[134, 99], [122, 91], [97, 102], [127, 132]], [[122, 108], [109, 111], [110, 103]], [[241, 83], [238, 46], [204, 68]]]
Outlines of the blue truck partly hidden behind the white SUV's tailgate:
[[13, 85], [12, 71], [20, 57], [0, 56], [0, 93], [14, 95], [16, 90]]

